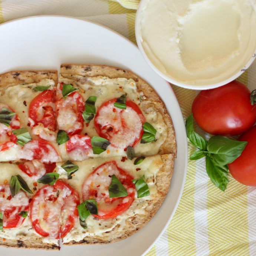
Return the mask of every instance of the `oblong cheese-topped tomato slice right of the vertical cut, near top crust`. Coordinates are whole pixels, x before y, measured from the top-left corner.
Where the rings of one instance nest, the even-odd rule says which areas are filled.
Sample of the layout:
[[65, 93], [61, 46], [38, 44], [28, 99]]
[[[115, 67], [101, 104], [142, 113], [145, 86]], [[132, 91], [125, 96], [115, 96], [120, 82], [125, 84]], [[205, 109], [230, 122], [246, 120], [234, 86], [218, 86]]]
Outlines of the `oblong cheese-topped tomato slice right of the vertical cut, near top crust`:
[[[62, 89], [60, 83], [58, 90]], [[82, 113], [85, 109], [83, 97], [77, 91], [72, 92], [66, 99], [60, 98], [56, 101], [57, 123], [60, 130], [69, 135], [78, 134], [83, 129]]]

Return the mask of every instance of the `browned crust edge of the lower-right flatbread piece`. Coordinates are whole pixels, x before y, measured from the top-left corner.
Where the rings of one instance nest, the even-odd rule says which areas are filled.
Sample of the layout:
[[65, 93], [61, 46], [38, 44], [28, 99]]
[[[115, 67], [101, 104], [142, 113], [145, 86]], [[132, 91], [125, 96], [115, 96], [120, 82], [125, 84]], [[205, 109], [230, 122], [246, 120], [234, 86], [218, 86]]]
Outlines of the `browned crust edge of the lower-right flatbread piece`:
[[109, 232], [103, 233], [101, 236], [86, 236], [79, 242], [70, 241], [69, 243], [64, 244], [76, 245], [114, 243], [131, 236], [132, 234], [140, 230], [142, 227], [144, 227], [148, 223], [148, 221], [150, 221], [151, 218], [155, 215], [157, 210], [160, 208], [170, 187], [171, 177], [173, 175], [174, 168], [174, 154], [161, 155], [161, 160], [163, 162], [163, 165], [156, 176], [158, 194], [155, 198], [148, 201], [148, 206], [145, 209], [145, 215], [136, 214], [132, 217], [129, 217], [126, 220], [125, 228], [124, 230], [122, 230], [123, 232], [120, 232], [120, 230], [114, 228]]

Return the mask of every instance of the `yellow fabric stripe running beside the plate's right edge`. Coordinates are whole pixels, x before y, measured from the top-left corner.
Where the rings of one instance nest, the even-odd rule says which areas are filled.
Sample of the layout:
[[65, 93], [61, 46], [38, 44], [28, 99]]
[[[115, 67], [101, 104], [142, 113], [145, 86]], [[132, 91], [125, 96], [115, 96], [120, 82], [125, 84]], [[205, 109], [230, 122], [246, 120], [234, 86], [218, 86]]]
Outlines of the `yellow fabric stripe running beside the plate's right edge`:
[[[196, 92], [172, 86], [184, 118], [191, 113], [191, 105]], [[188, 154], [195, 148], [188, 143]], [[196, 161], [188, 161], [186, 182], [178, 208], [167, 228], [169, 255], [196, 255], [194, 193], [195, 193]]]

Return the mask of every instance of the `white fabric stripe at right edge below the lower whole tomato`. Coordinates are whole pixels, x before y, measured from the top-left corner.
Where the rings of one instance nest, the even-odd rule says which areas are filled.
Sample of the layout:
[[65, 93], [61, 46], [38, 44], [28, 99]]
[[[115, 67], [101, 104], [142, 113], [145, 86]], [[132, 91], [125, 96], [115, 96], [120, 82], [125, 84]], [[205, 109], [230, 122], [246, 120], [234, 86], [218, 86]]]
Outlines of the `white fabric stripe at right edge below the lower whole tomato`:
[[249, 236], [249, 252], [255, 255], [256, 252], [256, 188], [248, 187], [248, 236]]

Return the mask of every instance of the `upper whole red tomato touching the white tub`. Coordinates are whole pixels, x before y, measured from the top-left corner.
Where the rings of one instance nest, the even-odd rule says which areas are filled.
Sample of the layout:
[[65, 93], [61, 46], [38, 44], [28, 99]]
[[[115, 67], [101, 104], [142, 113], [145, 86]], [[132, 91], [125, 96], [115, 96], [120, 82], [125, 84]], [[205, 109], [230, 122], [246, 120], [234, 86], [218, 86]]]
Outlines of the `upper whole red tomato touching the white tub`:
[[238, 135], [256, 122], [250, 91], [237, 81], [201, 91], [194, 99], [192, 113], [198, 126], [213, 135]]

